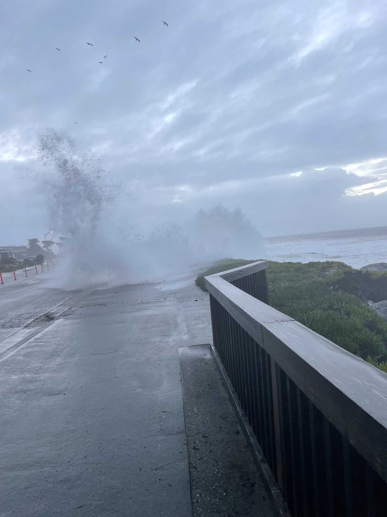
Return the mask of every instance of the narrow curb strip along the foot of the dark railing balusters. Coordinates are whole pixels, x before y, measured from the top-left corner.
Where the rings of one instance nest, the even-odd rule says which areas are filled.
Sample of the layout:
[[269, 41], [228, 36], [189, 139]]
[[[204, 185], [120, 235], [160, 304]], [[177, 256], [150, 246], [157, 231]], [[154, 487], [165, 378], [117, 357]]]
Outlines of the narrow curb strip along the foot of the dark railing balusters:
[[278, 517], [292, 517], [291, 513], [289, 512], [289, 509], [287, 508], [283, 495], [282, 495], [280, 489], [278, 488], [277, 482], [274, 479], [274, 476], [266, 461], [266, 458], [263, 454], [261, 446], [258, 443], [257, 439], [255, 438], [251, 425], [249, 424], [249, 421], [247, 420], [247, 416], [240, 405], [238, 396], [231, 384], [231, 381], [229, 379], [229, 376], [227, 375], [227, 372], [223, 368], [223, 364], [222, 364], [220, 357], [218, 356], [218, 353], [213, 344], [211, 345], [211, 354], [216, 362], [216, 366], [219, 369], [224, 386], [229, 393], [231, 404], [233, 405], [233, 407], [235, 409], [235, 414], [239, 420], [240, 427], [242, 428], [242, 430], [245, 434], [246, 441], [250, 447], [254, 461], [261, 470], [263, 481], [266, 484], [266, 488], [267, 488], [270, 498], [272, 500], [276, 514]]

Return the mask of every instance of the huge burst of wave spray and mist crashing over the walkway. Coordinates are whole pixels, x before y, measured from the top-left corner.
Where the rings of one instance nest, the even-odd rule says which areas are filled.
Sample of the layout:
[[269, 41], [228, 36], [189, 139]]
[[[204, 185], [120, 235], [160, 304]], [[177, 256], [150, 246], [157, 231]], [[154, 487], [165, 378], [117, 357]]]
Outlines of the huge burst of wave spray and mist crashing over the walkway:
[[[37, 181], [49, 192], [47, 227], [65, 237], [52, 286], [66, 290], [162, 280], [224, 257], [259, 258], [260, 232], [240, 209], [200, 209], [160, 223], [130, 187], [116, 182], [65, 132], [39, 138]], [[146, 221], [146, 223], [145, 223]]]

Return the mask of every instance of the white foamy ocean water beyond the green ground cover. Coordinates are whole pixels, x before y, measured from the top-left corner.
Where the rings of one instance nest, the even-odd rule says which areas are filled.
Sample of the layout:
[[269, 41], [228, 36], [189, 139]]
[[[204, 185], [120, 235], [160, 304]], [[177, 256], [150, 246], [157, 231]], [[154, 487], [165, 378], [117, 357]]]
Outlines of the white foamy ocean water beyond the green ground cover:
[[266, 237], [265, 258], [279, 262], [341, 261], [360, 268], [387, 262], [387, 226]]

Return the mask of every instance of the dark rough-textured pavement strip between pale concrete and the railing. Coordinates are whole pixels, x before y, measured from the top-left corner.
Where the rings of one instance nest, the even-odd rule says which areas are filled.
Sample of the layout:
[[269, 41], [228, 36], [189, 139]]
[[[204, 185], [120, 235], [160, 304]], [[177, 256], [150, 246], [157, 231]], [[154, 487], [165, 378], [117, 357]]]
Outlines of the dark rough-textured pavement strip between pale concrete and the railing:
[[273, 508], [209, 345], [179, 348], [195, 517], [271, 517]]

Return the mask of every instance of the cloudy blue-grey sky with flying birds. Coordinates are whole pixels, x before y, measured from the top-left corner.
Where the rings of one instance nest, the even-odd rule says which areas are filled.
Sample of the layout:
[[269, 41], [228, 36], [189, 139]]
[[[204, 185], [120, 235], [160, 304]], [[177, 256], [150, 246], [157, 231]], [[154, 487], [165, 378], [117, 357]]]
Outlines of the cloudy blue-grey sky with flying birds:
[[0, 245], [49, 230], [47, 128], [134, 222], [222, 204], [263, 235], [385, 225], [386, 21], [358, 0], [3, 4]]

